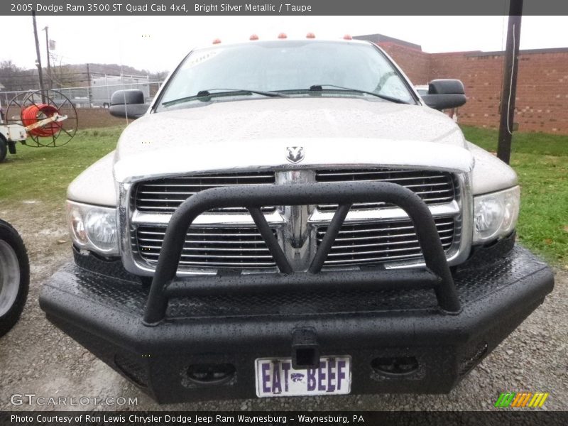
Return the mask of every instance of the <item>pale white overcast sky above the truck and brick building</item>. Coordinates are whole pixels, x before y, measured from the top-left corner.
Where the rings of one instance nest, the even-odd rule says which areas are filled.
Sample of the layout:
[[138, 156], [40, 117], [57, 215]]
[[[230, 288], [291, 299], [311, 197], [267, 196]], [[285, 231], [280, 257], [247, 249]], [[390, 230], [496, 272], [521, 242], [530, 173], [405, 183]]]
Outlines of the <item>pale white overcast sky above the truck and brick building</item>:
[[[422, 45], [429, 53], [503, 50], [503, 16], [38, 16], [42, 62], [45, 32], [57, 42], [63, 64], [98, 62], [150, 71], [171, 70], [195, 45], [247, 40], [252, 33], [273, 38], [279, 32], [337, 38], [349, 33], [381, 33]], [[521, 49], [568, 47], [567, 16], [524, 16]], [[31, 16], [0, 17], [4, 38], [0, 60], [34, 67]]]

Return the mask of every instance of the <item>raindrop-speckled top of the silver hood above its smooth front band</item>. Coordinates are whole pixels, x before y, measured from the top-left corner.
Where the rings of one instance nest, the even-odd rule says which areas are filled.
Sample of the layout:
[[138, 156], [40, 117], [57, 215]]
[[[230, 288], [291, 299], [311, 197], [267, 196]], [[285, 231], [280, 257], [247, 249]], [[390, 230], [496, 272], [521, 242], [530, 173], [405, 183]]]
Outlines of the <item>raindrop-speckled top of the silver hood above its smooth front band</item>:
[[118, 155], [206, 144], [306, 138], [425, 141], [464, 147], [459, 127], [427, 107], [348, 97], [192, 102], [188, 108], [148, 114], [119, 141]]

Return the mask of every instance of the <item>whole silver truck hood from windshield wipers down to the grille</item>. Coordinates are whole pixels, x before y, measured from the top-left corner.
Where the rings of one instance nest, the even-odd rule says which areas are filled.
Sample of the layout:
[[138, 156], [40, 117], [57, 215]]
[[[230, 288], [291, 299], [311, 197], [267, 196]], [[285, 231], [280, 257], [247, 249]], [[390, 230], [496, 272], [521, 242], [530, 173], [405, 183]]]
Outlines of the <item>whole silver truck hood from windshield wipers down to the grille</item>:
[[[299, 165], [287, 148], [301, 146]], [[392, 165], [469, 172], [459, 127], [427, 107], [353, 98], [250, 99], [147, 114], [122, 133], [119, 182], [235, 168]]]

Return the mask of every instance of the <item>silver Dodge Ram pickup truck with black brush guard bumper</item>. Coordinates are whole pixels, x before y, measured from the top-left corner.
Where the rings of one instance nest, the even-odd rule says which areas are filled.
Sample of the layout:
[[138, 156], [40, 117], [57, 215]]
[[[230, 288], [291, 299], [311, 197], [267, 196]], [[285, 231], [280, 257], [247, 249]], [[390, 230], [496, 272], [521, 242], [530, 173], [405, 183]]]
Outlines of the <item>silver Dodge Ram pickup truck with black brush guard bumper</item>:
[[356, 40], [192, 50], [67, 192], [49, 320], [160, 403], [442, 393], [552, 291], [515, 172]]

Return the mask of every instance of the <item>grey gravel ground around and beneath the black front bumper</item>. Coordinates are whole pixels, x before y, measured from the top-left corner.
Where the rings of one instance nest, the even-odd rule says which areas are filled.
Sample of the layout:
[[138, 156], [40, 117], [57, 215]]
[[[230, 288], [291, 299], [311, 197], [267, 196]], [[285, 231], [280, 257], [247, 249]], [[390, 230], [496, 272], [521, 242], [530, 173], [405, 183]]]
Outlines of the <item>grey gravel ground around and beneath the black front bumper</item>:
[[[568, 410], [568, 271], [520, 327], [448, 395], [348, 395], [157, 405], [45, 320], [41, 285], [72, 258], [65, 210], [27, 200], [2, 204], [0, 217], [20, 231], [31, 261], [28, 304], [0, 338], [0, 410], [491, 410], [503, 391], [549, 392], [545, 410]], [[138, 405], [12, 405], [13, 394], [138, 398]]]

